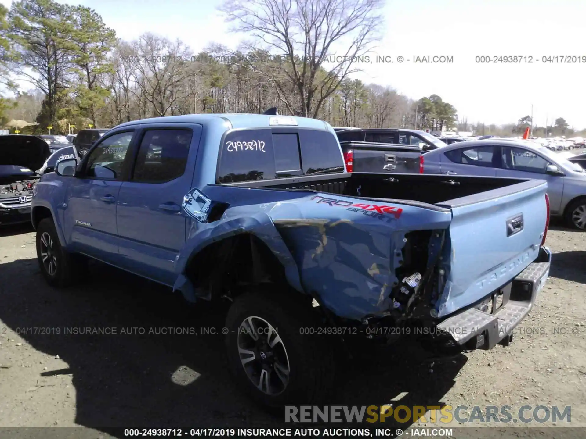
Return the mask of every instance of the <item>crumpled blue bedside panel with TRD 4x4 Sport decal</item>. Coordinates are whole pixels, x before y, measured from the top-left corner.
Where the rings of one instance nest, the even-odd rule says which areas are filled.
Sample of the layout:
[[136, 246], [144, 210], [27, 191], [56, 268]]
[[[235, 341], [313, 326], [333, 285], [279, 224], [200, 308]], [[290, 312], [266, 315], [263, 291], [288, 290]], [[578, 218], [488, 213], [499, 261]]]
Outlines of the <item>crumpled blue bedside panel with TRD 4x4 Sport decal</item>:
[[312, 191], [207, 186], [202, 192], [230, 207], [209, 224], [190, 219], [176, 287], [185, 282], [190, 255], [219, 239], [251, 233], [284, 265], [294, 289], [316, 294], [334, 314], [354, 320], [389, 309], [405, 234], [445, 229], [451, 221], [449, 211]]

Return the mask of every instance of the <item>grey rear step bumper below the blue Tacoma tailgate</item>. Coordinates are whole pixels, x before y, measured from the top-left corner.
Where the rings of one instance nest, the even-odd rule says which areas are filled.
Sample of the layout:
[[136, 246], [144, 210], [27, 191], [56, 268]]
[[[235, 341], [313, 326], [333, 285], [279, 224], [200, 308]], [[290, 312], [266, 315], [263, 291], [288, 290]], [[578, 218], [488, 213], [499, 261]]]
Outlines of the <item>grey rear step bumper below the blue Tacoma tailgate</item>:
[[[459, 345], [475, 349], [492, 349], [496, 344], [509, 344], [515, 327], [529, 313], [539, 291], [546, 283], [551, 264], [551, 252], [541, 247], [539, 256], [515, 279], [493, 293], [493, 313], [468, 308], [437, 325]], [[496, 297], [502, 295], [502, 305], [494, 308]]]

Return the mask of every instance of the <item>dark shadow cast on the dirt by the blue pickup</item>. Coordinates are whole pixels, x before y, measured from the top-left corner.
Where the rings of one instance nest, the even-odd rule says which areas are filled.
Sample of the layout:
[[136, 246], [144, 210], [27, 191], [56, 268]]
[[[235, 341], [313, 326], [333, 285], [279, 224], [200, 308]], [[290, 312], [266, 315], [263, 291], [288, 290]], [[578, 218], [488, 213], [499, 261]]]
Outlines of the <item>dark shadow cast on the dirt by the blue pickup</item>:
[[[0, 264], [0, 301], [0, 318], [11, 330], [54, 328], [53, 334], [21, 337], [69, 365], [39, 371], [39, 378], [72, 375], [76, 423], [81, 426], [118, 437], [122, 432], [112, 428], [318, 427], [284, 424], [284, 416], [266, 413], [237, 392], [227, 372], [220, 334], [224, 317], [221, 309], [209, 303], [186, 306], [182, 297], [166, 287], [100, 263], [91, 266], [90, 279], [83, 284], [52, 289], [42, 279], [35, 259]], [[199, 332], [202, 327], [219, 333], [173, 335], [169, 329], [166, 335], [148, 333], [151, 328]], [[59, 334], [54, 333], [56, 328]], [[66, 328], [116, 328], [117, 334], [65, 334]], [[130, 334], [122, 334], [122, 328]], [[462, 354], [434, 359], [409, 342], [361, 349], [358, 357], [339, 362], [333, 401], [357, 406], [380, 406], [393, 400], [395, 406], [443, 406], [441, 399], [465, 362]], [[53, 388], [58, 400], [60, 390]], [[65, 397], [65, 390], [61, 391]], [[389, 418], [382, 425], [365, 422], [357, 427], [405, 429], [409, 425]]]

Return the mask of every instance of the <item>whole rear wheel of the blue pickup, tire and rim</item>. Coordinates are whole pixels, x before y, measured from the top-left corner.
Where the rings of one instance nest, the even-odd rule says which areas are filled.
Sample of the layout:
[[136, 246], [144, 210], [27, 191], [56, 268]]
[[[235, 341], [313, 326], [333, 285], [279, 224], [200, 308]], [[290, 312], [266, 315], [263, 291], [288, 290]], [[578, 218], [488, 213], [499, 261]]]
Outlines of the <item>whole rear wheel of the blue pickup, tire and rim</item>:
[[314, 310], [275, 297], [282, 294], [243, 294], [226, 318], [231, 372], [244, 392], [270, 408], [325, 399], [334, 375], [331, 341], [308, 330], [319, 327]]

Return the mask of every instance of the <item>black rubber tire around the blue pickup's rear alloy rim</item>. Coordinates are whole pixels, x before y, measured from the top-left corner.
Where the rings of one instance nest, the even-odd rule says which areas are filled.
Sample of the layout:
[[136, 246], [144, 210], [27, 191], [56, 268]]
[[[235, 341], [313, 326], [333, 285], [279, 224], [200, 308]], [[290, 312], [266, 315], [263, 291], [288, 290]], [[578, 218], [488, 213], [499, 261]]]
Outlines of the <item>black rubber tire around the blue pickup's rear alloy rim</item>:
[[[317, 334], [317, 331], [312, 335], [302, 334], [301, 332], [307, 332], [303, 328], [317, 328], [323, 325], [311, 306], [308, 307], [303, 301], [295, 300], [289, 296], [282, 297], [282, 294], [284, 294], [282, 289], [275, 289], [271, 293], [244, 293], [234, 301], [226, 318], [226, 328], [229, 331], [226, 335], [226, 348], [230, 371], [241, 390], [268, 409], [277, 409], [285, 405], [323, 402], [327, 399], [334, 380], [335, 363], [332, 338], [335, 336]], [[277, 295], [281, 297], [275, 297]], [[253, 378], [248, 378], [248, 373], [241, 362], [239, 354], [241, 324], [253, 316], [255, 319], [265, 320], [276, 328], [282, 345], [285, 347], [289, 365], [286, 385], [278, 381], [280, 374], [276, 373], [276, 367], [265, 365], [275, 371], [274, 375], [271, 372], [267, 378], [273, 387], [273, 395], [258, 389], [253, 384]], [[245, 336], [246, 334], [243, 335], [243, 337]], [[280, 348], [280, 344], [275, 345], [274, 356], [272, 352], [270, 353], [274, 359], [277, 359], [278, 348]], [[247, 366], [248, 370], [260, 367], [263, 362], [261, 356], [264, 352], [258, 348], [253, 349], [255, 349], [256, 358]], [[272, 349], [270, 350], [272, 351]], [[263, 377], [262, 373], [260, 377]], [[272, 383], [276, 383], [276, 385], [273, 386]], [[284, 389], [280, 390], [280, 386], [284, 386]]]

